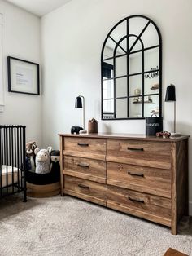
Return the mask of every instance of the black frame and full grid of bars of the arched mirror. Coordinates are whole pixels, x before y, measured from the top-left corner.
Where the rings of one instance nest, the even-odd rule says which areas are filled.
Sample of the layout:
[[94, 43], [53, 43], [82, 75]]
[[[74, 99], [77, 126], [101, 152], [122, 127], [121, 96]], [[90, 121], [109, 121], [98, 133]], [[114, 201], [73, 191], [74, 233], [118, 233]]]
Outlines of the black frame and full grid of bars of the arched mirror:
[[[130, 16], [128, 16], [128, 17], [126, 17], [126, 18], [124, 18], [123, 20], [120, 20], [111, 30], [110, 30], [110, 32], [107, 34], [107, 38], [104, 40], [104, 42], [103, 42], [103, 47], [102, 47], [102, 52], [101, 52], [101, 119], [103, 120], [103, 121], [110, 121], [110, 120], [142, 120], [142, 119], [145, 119], [146, 117], [144, 117], [144, 97], [146, 96], [146, 95], [144, 95], [143, 93], [142, 93], [142, 117], [129, 117], [129, 98], [131, 99], [133, 96], [130, 96], [129, 95], [129, 79], [127, 79], [127, 91], [128, 91], [128, 95], [125, 95], [124, 97], [122, 97], [122, 99], [123, 98], [126, 98], [126, 99], [128, 99], [128, 104], [127, 104], [127, 113], [128, 113], [128, 115], [127, 115], [127, 117], [116, 117], [116, 99], [118, 99], [118, 98], [116, 98], [116, 95], [114, 96], [114, 112], [111, 114], [110, 113], [110, 115], [107, 115], [107, 117], [105, 117], [104, 116], [104, 112], [103, 112], [103, 60], [104, 60], [104, 58], [103, 58], [103, 53], [104, 53], [104, 49], [105, 49], [105, 46], [106, 46], [106, 43], [107, 43], [107, 40], [108, 40], [108, 38], [110, 38], [111, 37], [111, 33], [113, 32], [113, 30], [114, 29], [116, 29], [116, 27], [119, 25], [119, 24], [121, 24], [121, 23], [123, 23], [124, 21], [126, 21], [126, 23], [127, 23], [127, 33], [126, 33], [126, 36], [124, 37], [124, 38], [129, 38], [129, 20], [131, 20], [131, 19], [133, 19], [133, 18], [143, 18], [143, 19], [146, 19], [147, 20], [147, 25], [148, 24], [153, 24], [154, 25], [154, 27], [155, 27], [155, 30], [156, 30], [156, 32], [158, 33], [158, 37], [159, 37], [159, 45], [158, 45], [158, 47], [159, 47], [159, 69], [158, 70], [155, 70], [155, 71], [158, 71], [158, 74], [159, 74], [159, 93], [158, 93], [158, 95], [159, 95], [159, 117], [162, 117], [162, 64], [163, 64], [163, 61], [162, 61], [162, 48], [163, 48], [163, 44], [162, 44], [162, 36], [161, 36], [161, 33], [160, 33], [160, 30], [159, 30], [159, 28], [158, 28], [158, 26], [155, 24], [155, 22], [153, 21], [153, 20], [151, 20], [150, 18], [148, 18], [148, 17], [146, 17], [145, 15], [130, 15]], [[144, 27], [144, 29], [143, 29], [143, 32], [146, 30], [146, 28]], [[124, 38], [121, 38], [120, 39], [120, 42], [124, 39]], [[112, 40], [113, 40], [113, 38], [111, 38]], [[139, 39], [138, 39], [139, 40]], [[113, 40], [114, 41], [114, 40]], [[114, 41], [115, 42], [115, 41]], [[120, 42], [118, 42], [118, 43], [120, 43]], [[116, 42], [117, 43], [117, 42]], [[129, 49], [129, 46], [127, 47], [128, 49]], [[150, 50], [150, 49], [152, 49], [153, 48], [153, 46], [152, 47], [148, 47], [148, 50]], [[147, 48], [146, 48], [147, 49]], [[124, 50], [124, 49], [123, 49]], [[130, 51], [130, 50], [129, 50]], [[142, 50], [142, 55], [144, 55], [144, 51], [145, 50]], [[129, 52], [128, 53], [125, 53], [125, 54], [123, 54], [123, 55], [127, 55], [128, 56], [128, 61], [127, 61], [127, 74], [125, 75], [125, 76], [121, 76], [121, 77], [130, 77], [131, 75], [135, 75], [135, 74], [129, 74]], [[122, 56], [123, 56], [122, 55]], [[120, 55], [119, 55], [119, 57], [120, 57]], [[116, 56], [115, 55], [113, 55], [111, 58], [108, 58], [108, 59], [106, 59], [106, 60], [110, 60], [110, 59], [112, 59], [112, 60], [114, 60], [113, 61], [113, 66], [114, 67], [116, 67]], [[141, 72], [141, 74], [142, 74], [142, 92], [144, 91], [144, 75], [146, 74], [146, 73], [151, 73], [152, 71], [147, 71], [147, 72], [145, 72], [144, 70], [143, 70], [143, 67], [144, 67], [144, 58], [142, 58], [142, 72]], [[116, 88], [116, 68], [113, 68], [113, 72], [114, 72], [114, 76], [113, 77], [111, 77], [111, 78], [108, 78], [108, 80], [113, 80], [114, 81], [114, 91], [116, 90], [115, 88]], [[118, 78], [120, 78], [120, 77], [118, 77]], [[154, 95], [154, 94], [153, 94]], [[120, 99], [120, 97], [119, 97], [119, 99]], [[107, 113], [108, 114], [108, 113]]]

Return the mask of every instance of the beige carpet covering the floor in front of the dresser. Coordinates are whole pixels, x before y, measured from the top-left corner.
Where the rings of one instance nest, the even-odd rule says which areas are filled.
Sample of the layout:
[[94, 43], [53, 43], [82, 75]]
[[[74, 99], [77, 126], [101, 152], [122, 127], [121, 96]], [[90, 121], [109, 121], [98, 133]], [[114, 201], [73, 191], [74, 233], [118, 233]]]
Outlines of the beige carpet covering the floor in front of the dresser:
[[168, 247], [192, 255], [192, 223], [180, 235], [139, 218], [66, 196], [9, 196], [0, 203], [0, 255], [162, 256]]

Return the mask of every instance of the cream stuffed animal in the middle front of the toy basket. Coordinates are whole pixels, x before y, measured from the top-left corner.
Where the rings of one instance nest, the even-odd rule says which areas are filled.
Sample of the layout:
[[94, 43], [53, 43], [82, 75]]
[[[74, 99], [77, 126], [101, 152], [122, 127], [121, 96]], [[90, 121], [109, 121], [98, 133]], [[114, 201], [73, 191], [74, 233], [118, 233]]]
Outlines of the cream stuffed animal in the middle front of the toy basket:
[[36, 170], [37, 174], [48, 174], [50, 173], [50, 152], [52, 151], [51, 147], [47, 149], [35, 149], [36, 154]]

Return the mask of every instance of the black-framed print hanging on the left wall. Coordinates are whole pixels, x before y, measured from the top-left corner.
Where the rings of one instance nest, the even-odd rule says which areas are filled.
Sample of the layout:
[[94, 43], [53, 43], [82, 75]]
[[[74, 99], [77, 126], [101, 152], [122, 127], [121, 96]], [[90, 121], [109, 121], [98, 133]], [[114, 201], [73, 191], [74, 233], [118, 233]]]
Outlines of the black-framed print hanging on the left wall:
[[[17, 71], [15, 71], [17, 70], [15, 69], [16, 64], [18, 64], [18, 67], [19, 68], [21, 67], [23, 71], [24, 71], [24, 68], [26, 69], [25, 71], [28, 71], [30, 75], [29, 78], [31, 78], [32, 80], [30, 81], [30, 87], [32, 87], [31, 91], [28, 86], [28, 80], [26, 79], [24, 74], [18, 73]], [[26, 67], [24, 67], [24, 64], [26, 64]], [[31, 67], [31, 70], [29, 67]], [[26, 94], [26, 95], [40, 95], [39, 64], [28, 61], [28, 60], [22, 60], [22, 59], [8, 56], [7, 57], [7, 75], [8, 75], [8, 91], [9, 92]], [[24, 86], [28, 86], [28, 88], [24, 90]]]

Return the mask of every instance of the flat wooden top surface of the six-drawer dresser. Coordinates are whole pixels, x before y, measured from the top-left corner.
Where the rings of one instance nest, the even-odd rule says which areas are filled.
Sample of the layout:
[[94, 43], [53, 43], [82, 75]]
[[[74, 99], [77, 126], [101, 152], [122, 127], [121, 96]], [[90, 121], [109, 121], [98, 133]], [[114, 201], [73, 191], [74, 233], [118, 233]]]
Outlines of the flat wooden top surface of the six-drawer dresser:
[[189, 135], [181, 135], [175, 138], [164, 139], [162, 137], [156, 136], [146, 136], [139, 134], [117, 134], [117, 133], [97, 133], [97, 134], [80, 134], [80, 135], [71, 135], [71, 134], [62, 134], [59, 136], [63, 137], [76, 137], [76, 138], [94, 138], [94, 139], [137, 139], [137, 140], [151, 140], [151, 141], [164, 141], [164, 142], [177, 142], [183, 139], [188, 139]]

